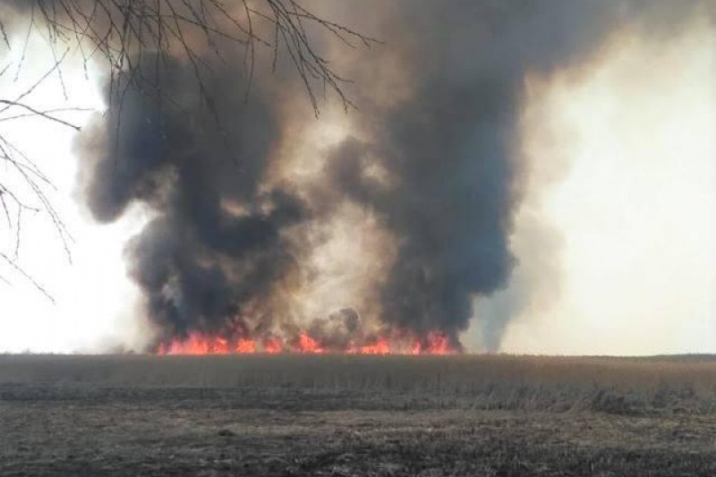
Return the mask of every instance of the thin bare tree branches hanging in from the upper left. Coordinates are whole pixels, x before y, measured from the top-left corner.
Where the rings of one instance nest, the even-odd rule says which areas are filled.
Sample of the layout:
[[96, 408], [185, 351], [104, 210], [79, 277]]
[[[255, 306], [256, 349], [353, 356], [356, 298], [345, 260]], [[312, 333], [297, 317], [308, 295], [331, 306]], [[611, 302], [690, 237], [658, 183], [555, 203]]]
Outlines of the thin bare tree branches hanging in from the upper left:
[[[141, 59], [148, 55], [154, 56], [153, 77], [159, 78], [159, 71], [169, 63], [169, 57], [180, 54], [192, 65], [200, 97], [217, 118], [217, 127], [220, 128], [214, 98], [206, 87], [203, 74], [211, 72], [205, 60], [205, 48], [208, 47], [209, 51], [220, 58], [219, 44], [222, 42], [231, 42], [243, 48], [247, 98], [256, 74], [260, 49], [263, 49], [268, 52], [274, 71], [279, 55], [286, 55], [303, 82], [314, 115], [320, 114], [317, 88], [335, 93], [347, 110], [354, 106], [343, 89], [350, 81], [334, 71], [328, 59], [321, 55], [309, 32], [317, 29], [328, 31], [343, 45], [351, 48], [355, 44], [370, 47], [377, 43], [375, 38], [320, 18], [296, 0], [27, 0], [21, 7], [27, 20], [27, 30], [21, 40], [21, 55], [16, 64], [14, 81], [18, 80], [26, 63], [33, 35], [44, 38], [54, 64], [21, 94], [14, 98], [0, 97], [0, 124], [37, 117], [79, 131], [80, 125], [72, 124], [63, 119], [62, 115], [83, 109], [71, 106], [47, 108], [30, 103], [33, 92], [52, 76], [56, 76], [64, 98], [67, 98], [62, 65], [69, 55], [81, 57], [86, 76], [90, 63], [106, 69], [109, 74], [110, 106], [116, 102], [121, 115], [122, 102], [129, 88], [143, 91], [154, 89], [154, 99], [161, 101], [163, 98], [157, 91], [160, 85], [149, 81], [147, 75], [151, 73], [143, 70], [146, 65], [142, 64]], [[10, 50], [13, 37], [8, 27], [8, 23], [0, 19], [0, 44]], [[7, 64], [0, 68], [0, 79], [10, 71], [10, 67], [11, 64]], [[0, 175], [0, 207], [7, 229], [15, 237], [13, 257], [0, 251], [0, 261], [9, 264], [49, 297], [47, 291], [17, 265], [16, 259], [20, 250], [24, 212], [39, 212], [49, 217], [68, 259], [71, 258], [68, 246], [71, 237], [47, 196], [47, 188], [52, 189], [52, 183], [34, 161], [13, 145], [1, 130], [0, 165], [18, 175], [31, 195], [30, 200], [24, 199], [19, 192], [11, 190], [10, 184], [4, 183]]]

